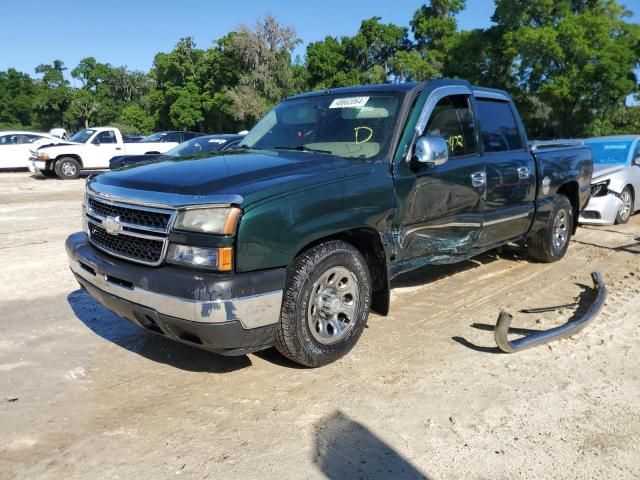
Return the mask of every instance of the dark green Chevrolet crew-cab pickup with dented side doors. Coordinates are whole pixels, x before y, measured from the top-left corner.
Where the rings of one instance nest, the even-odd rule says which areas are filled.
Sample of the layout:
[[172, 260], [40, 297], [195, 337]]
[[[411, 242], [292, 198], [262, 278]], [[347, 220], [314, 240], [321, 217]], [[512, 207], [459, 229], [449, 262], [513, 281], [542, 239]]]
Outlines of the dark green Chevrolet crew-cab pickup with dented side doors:
[[592, 171], [580, 143], [529, 145], [503, 91], [336, 88], [286, 99], [237, 150], [89, 179], [66, 250], [83, 289], [150, 332], [317, 367], [404, 272], [507, 243], [561, 259]]

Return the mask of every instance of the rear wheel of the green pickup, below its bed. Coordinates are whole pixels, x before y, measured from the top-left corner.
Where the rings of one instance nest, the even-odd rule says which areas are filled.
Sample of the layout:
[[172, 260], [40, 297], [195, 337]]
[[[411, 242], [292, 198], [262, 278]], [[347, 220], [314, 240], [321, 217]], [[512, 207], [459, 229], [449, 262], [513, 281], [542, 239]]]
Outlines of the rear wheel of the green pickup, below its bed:
[[557, 262], [564, 257], [573, 233], [573, 216], [569, 199], [564, 195], [556, 195], [547, 225], [527, 242], [528, 256], [543, 263]]

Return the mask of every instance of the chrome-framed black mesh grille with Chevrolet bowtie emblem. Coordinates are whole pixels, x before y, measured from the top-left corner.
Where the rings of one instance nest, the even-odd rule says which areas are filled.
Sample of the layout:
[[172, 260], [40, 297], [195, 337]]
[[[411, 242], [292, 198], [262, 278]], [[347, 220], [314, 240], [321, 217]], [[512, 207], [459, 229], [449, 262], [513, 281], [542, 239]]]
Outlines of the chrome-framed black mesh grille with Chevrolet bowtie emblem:
[[106, 253], [136, 263], [160, 265], [174, 213], [89, 197], [86, 230], [89, 241]]

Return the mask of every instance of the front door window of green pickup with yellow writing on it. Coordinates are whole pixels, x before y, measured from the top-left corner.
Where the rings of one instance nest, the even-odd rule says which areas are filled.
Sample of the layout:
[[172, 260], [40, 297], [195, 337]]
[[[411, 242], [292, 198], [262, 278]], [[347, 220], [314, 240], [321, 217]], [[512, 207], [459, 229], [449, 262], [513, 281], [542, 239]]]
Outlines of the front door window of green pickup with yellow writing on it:
[[444, 138], [449, 146], [450, 158], [476, 153], [476, 127], [469, 97], [452, 95], [441, 99], [431, 114], [424, 134]]

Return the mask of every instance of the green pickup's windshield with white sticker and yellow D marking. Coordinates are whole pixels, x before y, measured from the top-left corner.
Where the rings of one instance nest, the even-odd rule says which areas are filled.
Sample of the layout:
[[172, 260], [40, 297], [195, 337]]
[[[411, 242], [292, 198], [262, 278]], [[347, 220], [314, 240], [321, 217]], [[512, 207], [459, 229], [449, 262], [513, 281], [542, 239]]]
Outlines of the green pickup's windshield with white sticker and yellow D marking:
[[378, 158], [389, 149], [400, 95], [367, 92], [287, 100], [260, 120], [241, 146]]

